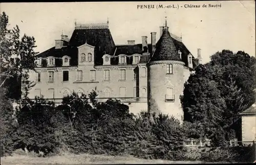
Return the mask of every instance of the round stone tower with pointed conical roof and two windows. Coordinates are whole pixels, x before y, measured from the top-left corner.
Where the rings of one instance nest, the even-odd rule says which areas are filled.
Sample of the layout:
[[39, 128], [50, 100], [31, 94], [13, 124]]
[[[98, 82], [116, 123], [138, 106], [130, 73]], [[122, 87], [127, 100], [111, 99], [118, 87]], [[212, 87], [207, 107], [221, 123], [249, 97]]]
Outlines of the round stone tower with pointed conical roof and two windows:
[[167, 23], [156, 44], [156, 51], [148, 62], [148, 112], [174, 116], [182, 122], [183, 110], [180, 95], [183, 94], [184, 65], [168, 32]]

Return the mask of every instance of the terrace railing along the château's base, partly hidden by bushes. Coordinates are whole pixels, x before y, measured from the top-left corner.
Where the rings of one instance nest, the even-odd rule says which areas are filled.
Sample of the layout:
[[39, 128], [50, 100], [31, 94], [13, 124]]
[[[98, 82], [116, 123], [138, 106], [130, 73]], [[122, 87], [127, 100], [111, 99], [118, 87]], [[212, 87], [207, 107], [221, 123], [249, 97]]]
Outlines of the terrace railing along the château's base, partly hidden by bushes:
[[[96, 98], [96, 100], [98, 102], [105, 102], [109, 99], [117, 99], [120, 100], [121, 103], [146, 103], [147, 102], [147, 98], [145, 97], [138, 97], [138, 98]], [[31, 99], [31, 100], [35, 100], [35, 99]], [[45, 99], [48, 101], [53, 101], [55, 103], [61, 103], [62, 102], [62, 98], [58, 98], [58, 99]], [[91, 100], [88, 99], [88, 102], [91, 103]]]

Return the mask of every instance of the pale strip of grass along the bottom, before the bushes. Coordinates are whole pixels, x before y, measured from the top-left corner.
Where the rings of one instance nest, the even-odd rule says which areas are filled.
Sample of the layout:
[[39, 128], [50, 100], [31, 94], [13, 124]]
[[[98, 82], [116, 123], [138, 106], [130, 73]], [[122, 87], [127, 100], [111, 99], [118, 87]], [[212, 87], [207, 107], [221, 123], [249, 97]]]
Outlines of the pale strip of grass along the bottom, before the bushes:
[[35, 157], [29, 155], [14, 155], [1, 157], [1, 165], [5, 164], [113, 164], [113, 163], [201, 163], [201, 161], [170, 161], [160, 159], [139, 159], [133, 156], [108, 156], [108, 155], [89, 155], [89, 154], [67, 154], [62, 156]]

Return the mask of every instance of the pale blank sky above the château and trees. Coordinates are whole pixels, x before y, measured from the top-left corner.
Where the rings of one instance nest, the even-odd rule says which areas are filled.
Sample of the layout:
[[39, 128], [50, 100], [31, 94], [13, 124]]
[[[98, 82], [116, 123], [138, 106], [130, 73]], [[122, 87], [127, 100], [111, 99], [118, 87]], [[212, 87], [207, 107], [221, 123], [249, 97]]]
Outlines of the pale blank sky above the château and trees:
[[[106, 22], [115, 44], [127, 40], [141, 43], [146, 35], [151, 43], [151, 32], [157, 32], [167, 16], [169, 32], [180, 36], [187, 49], [197, 57], [202, 49], [203, 62], [209, 56], [228, 49], [245, 51], [255, 56], [254, 1], [205, 2], [89, 2], [89, 3], [1, 3], [0, 11], [9, 16], [10, 27], [18, 25], [21, 35], [36, 39], [36, 51], [42, 52], [55, 45], [61, 31], [71, 37], [77, 23]], [[156, 5], [179, 5], [179, 9], [156, 9]], [[185, 4], [201, 8], [184, 8]], [[221, 8], [202, 8], [206, 4], [221, 4]], [[155, 9], [137, 9], [137, 5], [155, 5]], [[181, 8], [180, 6], [183, 6]]]

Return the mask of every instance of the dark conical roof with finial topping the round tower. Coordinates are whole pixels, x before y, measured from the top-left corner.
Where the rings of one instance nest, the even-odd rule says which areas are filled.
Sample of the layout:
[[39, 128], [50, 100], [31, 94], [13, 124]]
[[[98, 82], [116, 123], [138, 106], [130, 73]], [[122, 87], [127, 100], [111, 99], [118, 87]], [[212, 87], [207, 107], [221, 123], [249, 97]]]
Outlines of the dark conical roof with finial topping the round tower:
[[165, 23], [162, 36], [156, 44], [156, 51], [150, 61], [181, 61], [168, 27]]

